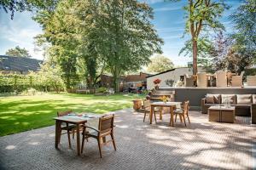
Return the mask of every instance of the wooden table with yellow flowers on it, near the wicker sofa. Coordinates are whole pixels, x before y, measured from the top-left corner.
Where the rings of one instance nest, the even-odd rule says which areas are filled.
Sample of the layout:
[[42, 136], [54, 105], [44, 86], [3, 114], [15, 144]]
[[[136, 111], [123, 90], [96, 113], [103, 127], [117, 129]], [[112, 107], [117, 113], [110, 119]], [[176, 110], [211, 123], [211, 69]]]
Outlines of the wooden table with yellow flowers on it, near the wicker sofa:
[[[181, 105], [182, 102], [154, 102], [152, 104], [150, 104], [150, 115], [149, 115], [149, 119], [150, 119], [150, 124], [152, 124], [152, 117], [153, 117], [153, 111], [154, 111], [154, 107], [169, 107], [170, 108], [170, 113], [171, 113], [171, 120], [170, 120], [170, 126], [174, 127], [174, 121], [173, 121], [173, 110], [177, 107], [177, 105]], [[162, 110], [162, 109], [161, 109]]]

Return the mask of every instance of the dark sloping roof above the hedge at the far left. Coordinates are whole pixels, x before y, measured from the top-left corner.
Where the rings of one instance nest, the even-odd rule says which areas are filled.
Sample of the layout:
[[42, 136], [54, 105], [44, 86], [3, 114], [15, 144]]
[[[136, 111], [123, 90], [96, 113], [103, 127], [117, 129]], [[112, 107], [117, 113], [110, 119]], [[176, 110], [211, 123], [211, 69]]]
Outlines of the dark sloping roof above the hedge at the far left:
[[38, 71], [43, 60], [0, 55], [0, 71]]

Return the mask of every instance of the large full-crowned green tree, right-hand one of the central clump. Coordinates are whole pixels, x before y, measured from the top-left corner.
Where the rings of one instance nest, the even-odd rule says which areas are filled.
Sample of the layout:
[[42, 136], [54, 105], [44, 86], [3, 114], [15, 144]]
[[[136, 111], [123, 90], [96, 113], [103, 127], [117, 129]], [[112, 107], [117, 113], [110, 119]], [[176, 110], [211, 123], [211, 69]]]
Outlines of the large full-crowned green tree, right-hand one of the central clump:
[[119, 91], [119, 76], [149, 63], [149, 57], [161, 53], [162, 40], [151, 20], [153, 9], [136, 0], [102, 0], [98, 5], [96, 27], [102, 55], [113, 75], [113, 87]]

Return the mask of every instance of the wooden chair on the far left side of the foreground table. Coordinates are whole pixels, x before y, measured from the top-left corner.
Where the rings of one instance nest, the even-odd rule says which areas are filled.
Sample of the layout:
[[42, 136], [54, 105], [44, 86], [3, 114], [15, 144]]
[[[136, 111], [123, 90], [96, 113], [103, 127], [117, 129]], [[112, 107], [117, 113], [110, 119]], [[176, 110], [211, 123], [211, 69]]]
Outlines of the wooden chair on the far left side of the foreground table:
[[[72, 113], [72, 112], [73, 111], [58, 111], [57, 116], [67, 116], [69, 113]], [[61, 132], [62, 132], [62, 130], [67, 131], [68, 145], [70, 148], [71, 148], [70, 134], [75, 133], [75, 130], [74, 130], [75, 128], [76, 128], [75, 125], [69, 125], [67, 122], [61, 124]], [[65, 133], [61, 133], [61, 134], [65, 134]], [[61, 136], [60, 136], [60, 138], [61, 138]], [[59, 139], [59, 141], [61, 141], [61, 139]]]

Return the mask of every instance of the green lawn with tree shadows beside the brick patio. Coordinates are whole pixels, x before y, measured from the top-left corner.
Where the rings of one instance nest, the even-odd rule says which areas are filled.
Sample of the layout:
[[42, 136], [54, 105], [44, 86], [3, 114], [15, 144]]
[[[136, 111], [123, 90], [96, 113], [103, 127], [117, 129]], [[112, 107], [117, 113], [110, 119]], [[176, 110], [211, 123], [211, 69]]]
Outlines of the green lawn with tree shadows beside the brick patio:
[[57, 111], [106, 113], [129, 108], [137, 95], [42, 94], [0, 97], [0, 136], [53, 125]]

